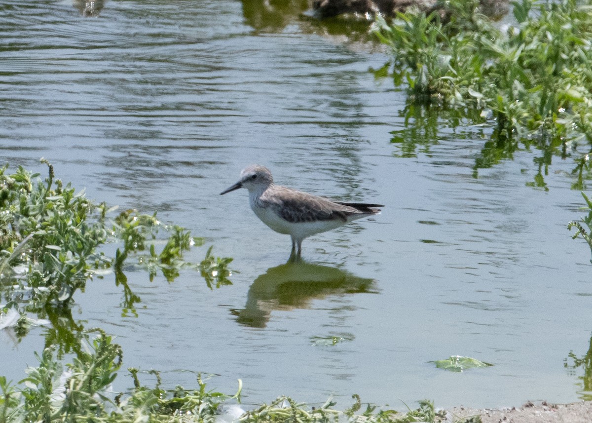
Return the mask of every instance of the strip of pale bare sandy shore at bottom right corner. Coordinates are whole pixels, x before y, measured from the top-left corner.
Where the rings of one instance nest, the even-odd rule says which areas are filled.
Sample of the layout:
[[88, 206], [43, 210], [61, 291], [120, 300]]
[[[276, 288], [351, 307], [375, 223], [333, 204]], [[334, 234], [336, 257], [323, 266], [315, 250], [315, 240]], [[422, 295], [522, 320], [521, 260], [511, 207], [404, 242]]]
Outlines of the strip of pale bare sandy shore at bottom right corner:
[[592, 423], [592, 401], [571, 404], [528, 402], [519, 408], [502, 409], [461, 406], [449, 410], [449, 413], [454, 422], [463, 417], [480, 415], [482, 423]]

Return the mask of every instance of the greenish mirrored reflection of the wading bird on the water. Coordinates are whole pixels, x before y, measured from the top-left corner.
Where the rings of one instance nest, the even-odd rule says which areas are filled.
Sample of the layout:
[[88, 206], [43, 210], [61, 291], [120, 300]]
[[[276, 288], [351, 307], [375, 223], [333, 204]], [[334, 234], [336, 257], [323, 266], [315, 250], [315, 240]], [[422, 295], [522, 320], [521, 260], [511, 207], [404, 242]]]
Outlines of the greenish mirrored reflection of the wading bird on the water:
[[247, 293], [244, 309], [231, 312], [242, 325], [265, 328], [273, 310], [306, 309], [314, 299], [354, 293], [378, 291], [373, 279], [360, 278], [335, 267], [288, 262], [269, 268], [256, 278]]

